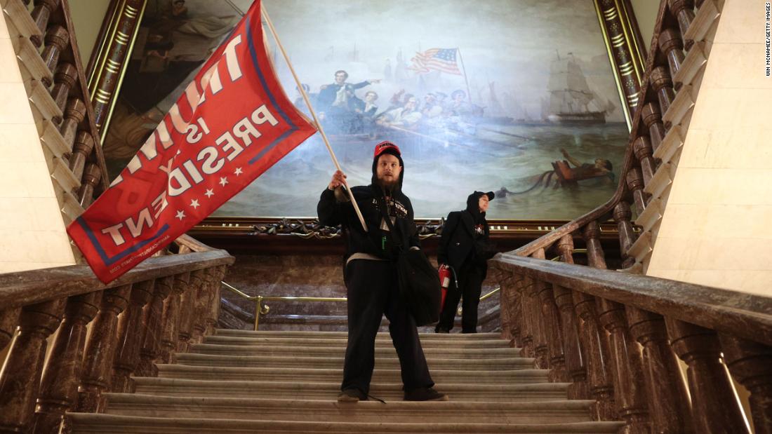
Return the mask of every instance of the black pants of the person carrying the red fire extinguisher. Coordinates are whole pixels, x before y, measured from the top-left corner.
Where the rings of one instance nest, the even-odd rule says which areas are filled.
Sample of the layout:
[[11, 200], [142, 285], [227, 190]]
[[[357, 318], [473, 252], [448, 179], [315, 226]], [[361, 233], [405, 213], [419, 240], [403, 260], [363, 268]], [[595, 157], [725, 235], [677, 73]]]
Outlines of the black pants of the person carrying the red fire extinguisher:
[[477, 306], [480, 303], [482, 281], [485, 280], [486, 271], [486, 264], [476, 264], [472, 260], [464, 261], [460, 269], [455, 271], [459, 288], [455, 288], [455, 283], [451, 280], [448, 294], [445, 295], [445, 305], [442, 306], [435, 330], [453, 328], [455, 309], [459, 307], [459, 299], [463, 295], [461, 331], [462, 333], [477, 332]]

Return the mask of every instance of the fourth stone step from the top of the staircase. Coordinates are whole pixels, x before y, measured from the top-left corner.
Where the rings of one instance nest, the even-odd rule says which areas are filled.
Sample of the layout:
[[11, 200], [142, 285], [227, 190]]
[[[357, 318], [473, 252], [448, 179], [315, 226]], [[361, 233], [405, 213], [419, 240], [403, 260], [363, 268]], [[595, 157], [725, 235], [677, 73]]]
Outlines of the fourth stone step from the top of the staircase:
[[[272, 356], [272, 355], [216, 355], [185, 353], [176, 355], [181, 365], [196, 366], [239, 366], [242, 368], [342, 368], [344, 353], [338, 352], [330, 357], [306, 356]], [[426, 362], [432, 369], [465, 369], [469, 371], [531, 369], [535, 359], [517, 358], [445, 358], [438, 355], [427, 355]], [[376, 368], [399, 368], [399, 360], [379, 355], [375, 360]]]

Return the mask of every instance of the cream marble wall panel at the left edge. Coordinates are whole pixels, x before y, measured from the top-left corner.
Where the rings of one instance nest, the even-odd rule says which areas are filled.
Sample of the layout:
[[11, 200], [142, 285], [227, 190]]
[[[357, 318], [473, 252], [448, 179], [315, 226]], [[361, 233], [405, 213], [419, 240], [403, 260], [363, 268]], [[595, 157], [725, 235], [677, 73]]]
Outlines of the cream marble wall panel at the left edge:
[[0, 14], [0, 273], [75, 264], [6, 19]]

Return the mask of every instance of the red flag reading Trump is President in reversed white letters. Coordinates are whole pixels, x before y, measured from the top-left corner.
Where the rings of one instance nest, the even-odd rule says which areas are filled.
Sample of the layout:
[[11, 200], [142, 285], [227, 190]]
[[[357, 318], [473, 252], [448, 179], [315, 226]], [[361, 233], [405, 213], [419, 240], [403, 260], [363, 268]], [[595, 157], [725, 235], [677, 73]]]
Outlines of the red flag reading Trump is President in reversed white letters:
[[97, 277], [113, 281], [315, 132], [273, 73], [260, 2], [254, 2], [126, 169], [67, 233]]

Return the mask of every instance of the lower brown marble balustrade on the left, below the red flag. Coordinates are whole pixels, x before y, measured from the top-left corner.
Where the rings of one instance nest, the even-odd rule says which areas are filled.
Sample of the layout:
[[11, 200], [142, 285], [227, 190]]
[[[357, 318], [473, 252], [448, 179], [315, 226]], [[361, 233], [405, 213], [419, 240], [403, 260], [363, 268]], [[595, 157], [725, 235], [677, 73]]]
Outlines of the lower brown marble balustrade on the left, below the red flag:
[[66, 412], [102, 412], [104, 392], [133, 392], [132, 375], [212, 334], [234, 258], [172, 246], [110, 284], [86, 265], [0, 274], [0, 431], [67, 432]]

